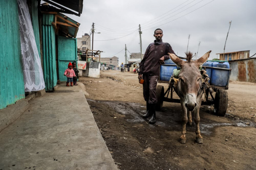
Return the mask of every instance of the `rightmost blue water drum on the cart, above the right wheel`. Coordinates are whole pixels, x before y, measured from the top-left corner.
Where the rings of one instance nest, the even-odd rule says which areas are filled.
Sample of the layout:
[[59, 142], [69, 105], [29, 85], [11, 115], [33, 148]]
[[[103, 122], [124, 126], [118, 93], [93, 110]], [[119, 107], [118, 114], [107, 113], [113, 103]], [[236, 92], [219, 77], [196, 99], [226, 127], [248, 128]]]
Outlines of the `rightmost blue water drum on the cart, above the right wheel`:
[[227, 87], [230, 70], [221, 70], [218, 68], [229, 69], [230, 65], [228, 62], [212, 62], [212, 75], [210, 85]]

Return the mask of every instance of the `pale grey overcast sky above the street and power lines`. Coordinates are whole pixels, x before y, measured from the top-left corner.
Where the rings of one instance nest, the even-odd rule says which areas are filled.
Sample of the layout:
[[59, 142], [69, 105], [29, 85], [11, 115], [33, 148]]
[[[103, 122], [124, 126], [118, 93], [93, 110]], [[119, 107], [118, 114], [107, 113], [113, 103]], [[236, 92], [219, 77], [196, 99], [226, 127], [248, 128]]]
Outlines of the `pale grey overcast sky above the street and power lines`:
[[81, 24], [77, 37], [90, 33], [95, 23], [95, 32], [101, 34], [94, 34], [93, 49], [104, 51], [102, 57], [119, 57], [120, 65], [125, 61], [125, 44], [129, 52], [140, 52], [139, 24], [143, 53], [155, 40], [154, 30], [161, 28], [163, 42], [169, 42], [178, 56], [184, 57], [190, 34], [188, 50], [196, 53], [201, 42], [198, 57], [212, 50], [212, 59], [223, 52], [232, 20], [225, 52], [250, 50], [252, 56], [255, 7], [256, 0], [84, 0], [81, 16], [68, 16]]

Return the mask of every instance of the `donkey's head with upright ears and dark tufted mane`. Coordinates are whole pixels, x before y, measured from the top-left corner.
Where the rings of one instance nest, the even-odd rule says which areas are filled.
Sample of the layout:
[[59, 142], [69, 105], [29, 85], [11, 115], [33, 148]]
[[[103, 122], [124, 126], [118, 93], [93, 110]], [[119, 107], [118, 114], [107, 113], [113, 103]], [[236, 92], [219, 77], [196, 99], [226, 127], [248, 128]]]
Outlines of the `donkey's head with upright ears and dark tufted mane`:
[[192, 53], [186, 52], [186, 60], [178, 58], [175, 54], [169, 54], [172, 61], [181, 68], [179, 74], [178, 93], [183, 98], [184, 105], [189, 111], [193, 111], [197, 106], [197, 96], [202, 93], [201, 73], [198, 70], [200, 65], [207, 61], [211, 51], [204, 54], [201, 58], [193, 61]]

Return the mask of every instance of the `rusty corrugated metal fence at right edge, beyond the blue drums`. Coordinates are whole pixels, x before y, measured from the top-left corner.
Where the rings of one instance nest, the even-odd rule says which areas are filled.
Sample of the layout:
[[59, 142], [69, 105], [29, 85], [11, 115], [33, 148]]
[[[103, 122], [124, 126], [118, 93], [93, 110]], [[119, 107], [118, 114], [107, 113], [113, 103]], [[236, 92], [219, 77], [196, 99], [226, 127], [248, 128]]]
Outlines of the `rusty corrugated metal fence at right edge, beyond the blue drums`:
[[230, 80], [256, 82], [256, 58], [229, 61], [232, 69]]

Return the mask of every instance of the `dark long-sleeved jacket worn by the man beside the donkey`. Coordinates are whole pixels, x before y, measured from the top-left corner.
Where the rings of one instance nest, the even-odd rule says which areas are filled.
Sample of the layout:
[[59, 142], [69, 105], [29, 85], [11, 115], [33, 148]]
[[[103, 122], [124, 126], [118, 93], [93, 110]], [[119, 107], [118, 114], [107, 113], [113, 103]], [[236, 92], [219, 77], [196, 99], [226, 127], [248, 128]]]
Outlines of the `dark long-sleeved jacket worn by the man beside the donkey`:
[[162, 40], [160, 42], [154, 40], [154, 42], [148, 45], [144, 57], [140, 62], [139, 74], [159, 75], [159, 59], [163, 56], [164, 59], [169, 59], [170, 56], [168, 53], [175, 54], [169, 43], [163, 42]]

